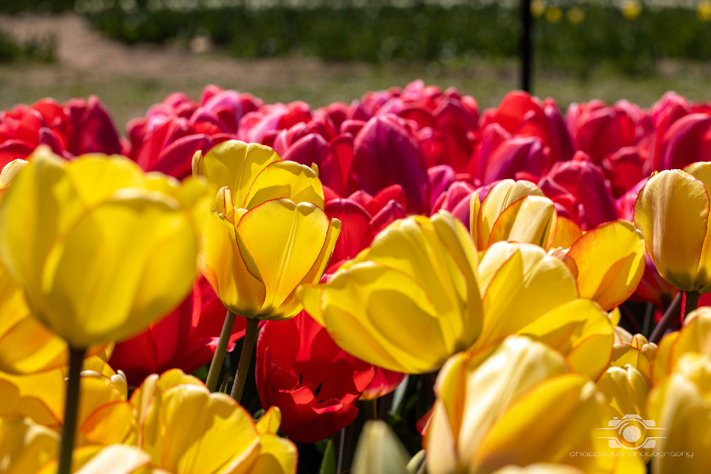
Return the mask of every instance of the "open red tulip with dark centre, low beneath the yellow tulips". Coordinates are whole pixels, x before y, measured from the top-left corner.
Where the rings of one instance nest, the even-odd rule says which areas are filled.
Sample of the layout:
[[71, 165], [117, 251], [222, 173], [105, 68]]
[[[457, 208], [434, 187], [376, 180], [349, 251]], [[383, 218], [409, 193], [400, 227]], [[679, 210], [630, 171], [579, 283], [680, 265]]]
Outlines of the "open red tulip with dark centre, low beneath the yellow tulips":
[[315, 443], [355, 419], [355, 402], [375, 368], [338, 348], [305, 311], [267, 321], [257, 339], [257, 392], [262, 407], [278, 406], [279, 431]]

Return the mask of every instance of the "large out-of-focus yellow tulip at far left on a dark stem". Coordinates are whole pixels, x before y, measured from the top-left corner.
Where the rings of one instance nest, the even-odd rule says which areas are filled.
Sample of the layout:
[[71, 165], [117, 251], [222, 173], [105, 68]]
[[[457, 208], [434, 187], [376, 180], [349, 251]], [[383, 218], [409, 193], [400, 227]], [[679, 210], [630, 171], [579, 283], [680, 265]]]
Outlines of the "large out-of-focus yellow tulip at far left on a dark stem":
[[41, 147], [4, 195], [0, 256], [33, 315], [73, 348], [127, 338], [190, 291], [205, 190], [128, 158], [65, 161]]

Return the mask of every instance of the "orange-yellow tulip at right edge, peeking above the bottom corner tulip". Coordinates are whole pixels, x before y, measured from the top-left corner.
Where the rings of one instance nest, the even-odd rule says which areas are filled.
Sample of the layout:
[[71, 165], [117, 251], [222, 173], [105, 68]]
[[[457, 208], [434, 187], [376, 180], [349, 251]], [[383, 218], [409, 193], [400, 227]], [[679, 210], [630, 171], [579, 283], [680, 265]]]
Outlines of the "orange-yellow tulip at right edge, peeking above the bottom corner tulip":
[[695, 352], [711, 360], [711, 308], [702, 306], [691, 312], [681, 330], [665, 335], [654, 356], [654, 384], [661, 384], [686, 353]]

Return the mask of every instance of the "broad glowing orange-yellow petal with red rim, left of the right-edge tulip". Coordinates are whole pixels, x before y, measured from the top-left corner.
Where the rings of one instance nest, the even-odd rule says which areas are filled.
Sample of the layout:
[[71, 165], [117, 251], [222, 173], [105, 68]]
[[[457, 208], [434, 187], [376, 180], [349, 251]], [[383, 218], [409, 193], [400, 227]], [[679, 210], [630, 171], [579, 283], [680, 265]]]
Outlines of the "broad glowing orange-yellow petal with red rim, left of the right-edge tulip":
[[578, 269], [582, 298], [590, 298], [609, 311], [629, 298], [644, 273], [644, 239], [631, 222], [599, 225], [580, 237], [567, 256]]

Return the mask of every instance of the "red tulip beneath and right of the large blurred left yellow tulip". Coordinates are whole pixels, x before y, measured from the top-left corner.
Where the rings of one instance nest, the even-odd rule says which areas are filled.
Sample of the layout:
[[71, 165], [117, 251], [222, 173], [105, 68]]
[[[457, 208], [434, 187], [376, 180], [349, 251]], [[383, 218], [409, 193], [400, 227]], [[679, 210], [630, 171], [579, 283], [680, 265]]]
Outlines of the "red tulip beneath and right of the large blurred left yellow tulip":
[[[109, 360], [123, 370], [129, 384], [139, 386], [151, 374], [180, 369], [187, 374], [212, 360], [220, 338], [225, 307], [201, 276], [193, 292], [171, 313], [143, 333], [117, 343]], [[228, 350], [245, 335], [245, 318], [237, 318]]]

